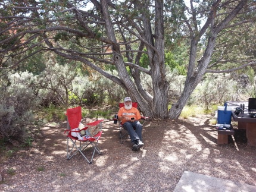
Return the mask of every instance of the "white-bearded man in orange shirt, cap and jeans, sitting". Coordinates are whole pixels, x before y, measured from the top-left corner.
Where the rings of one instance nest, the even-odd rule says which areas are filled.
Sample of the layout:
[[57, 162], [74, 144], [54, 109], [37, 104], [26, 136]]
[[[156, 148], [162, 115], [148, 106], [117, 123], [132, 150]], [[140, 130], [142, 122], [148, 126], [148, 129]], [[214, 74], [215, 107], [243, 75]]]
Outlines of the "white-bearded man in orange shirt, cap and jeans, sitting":
[[130, 97], [124, 98], [124, 107], [118, 111], [118, 121], [123, 124], [125, 130], [128, 131], [130, 139], [133, 143], [132, 150], [139, 150], [143, 147], [142, 143], [142, 125], [138, 120], [141, 119], [141, 114], [138, 109], [132, 106]]

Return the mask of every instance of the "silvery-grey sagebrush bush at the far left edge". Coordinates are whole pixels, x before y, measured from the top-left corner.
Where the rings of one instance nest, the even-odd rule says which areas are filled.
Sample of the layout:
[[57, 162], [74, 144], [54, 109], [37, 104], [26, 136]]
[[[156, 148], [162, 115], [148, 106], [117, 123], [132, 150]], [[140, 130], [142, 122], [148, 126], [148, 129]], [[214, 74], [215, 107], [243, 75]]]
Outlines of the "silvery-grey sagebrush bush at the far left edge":
[[0, 81], [0, 138], [22, 141], [27, 126], [34, 122], [32, 110], [39, 99], [33, 94], [33, 74], [9, 74], [6, 81]]

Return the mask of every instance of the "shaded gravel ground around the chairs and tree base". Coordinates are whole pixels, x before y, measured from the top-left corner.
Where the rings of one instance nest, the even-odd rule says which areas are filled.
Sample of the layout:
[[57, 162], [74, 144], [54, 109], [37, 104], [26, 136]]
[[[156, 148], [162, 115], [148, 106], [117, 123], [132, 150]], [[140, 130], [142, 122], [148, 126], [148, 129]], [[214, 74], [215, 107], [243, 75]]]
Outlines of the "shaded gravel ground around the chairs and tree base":
[[80, 154], [66, 160], [65, 124], [48, 124], [33, 147], [0, 163], [0, 191], [173, 191], [184, 171], [256, 186], [256, 147], [247, 146], [245, 130], [217, 145], [212, 118], [146, 122], [139, 152], [129, 140], [120, 144], [117, 124], [105, 121], [103, 155], [91, 165]]

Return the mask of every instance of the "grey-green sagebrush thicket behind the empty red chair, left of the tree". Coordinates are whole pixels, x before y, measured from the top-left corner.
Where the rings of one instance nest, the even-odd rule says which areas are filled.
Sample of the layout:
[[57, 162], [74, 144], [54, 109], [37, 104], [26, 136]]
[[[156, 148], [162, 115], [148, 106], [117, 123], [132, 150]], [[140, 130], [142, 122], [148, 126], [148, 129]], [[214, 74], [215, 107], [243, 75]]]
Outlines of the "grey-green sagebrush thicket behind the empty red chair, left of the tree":
[[[39, 104], [42, 105], [41, 100], [45, 107], [38, 112], [38, 118], [42, 118], [45, 123], [66, 119], [63, 112], [66, 107], [57, 106], [58, 103], [65, 103], [65, 91], [68, 92], [68, 102], [72, 106], [102, 105], [108, 96], [114, 98], [115, 102], [123, 99], [123, 93], [118, 92], [122, 89], [117, 89], [110, 80], [106, 81], [99, 75], [95, 75], [94, 78], [84, 76], [83, 73], [70, 70], [67, 65], [49, 65], [48, 62], [45, 71], [39, 75], [24, 71], [7, 76], [9, 78], [6, 80], [2, 78], [0, 81], [0, 88], [4, 93], [1, 95], [0, 103], [0, 136], [2, 140], [5, 138], [7, 141], [8, 139], [18, 140], [23, 143], [21, 145], [23, 147], [33, 144], [34, 139], [29, 126], [38, 123], [33, 118], [33, 111], [38, 110]], [[73, 89], [73, 92], [70, 92], [68, 87]], [[111, 94], [108, 95], [107, 92]], [[63, 98], [61, 102], [55, 100], [60, 96]], [[110, 111], [92, 112], [90, 117], [108, 118], [110, 113]], [[83, 117], [88, 114], [89, 111], [83, 110]]]

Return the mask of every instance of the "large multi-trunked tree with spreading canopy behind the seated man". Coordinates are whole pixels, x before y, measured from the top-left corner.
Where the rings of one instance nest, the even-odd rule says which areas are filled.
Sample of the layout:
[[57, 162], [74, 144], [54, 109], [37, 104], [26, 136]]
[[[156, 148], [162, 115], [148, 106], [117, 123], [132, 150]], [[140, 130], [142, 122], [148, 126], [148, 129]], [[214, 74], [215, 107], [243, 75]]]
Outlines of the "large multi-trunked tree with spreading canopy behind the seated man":
[[[252, 0], [7, 0], [0, 8], [2, 69], [29, 65], [29, 58], [53, 52], [123, 87], [149, 117], [178, 118], [206, 73], [256, 64]], [[171, 54], [177, 62], [166, 62]], [[36, 62], [39, 70], [41, 62]], [[167, 63], [186, 73], [170, 110]], [[117, 75], [108, 73], [111, 67]], [[141, 74], [151, 77], [152, 94], [143, 89]]]

